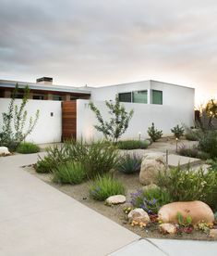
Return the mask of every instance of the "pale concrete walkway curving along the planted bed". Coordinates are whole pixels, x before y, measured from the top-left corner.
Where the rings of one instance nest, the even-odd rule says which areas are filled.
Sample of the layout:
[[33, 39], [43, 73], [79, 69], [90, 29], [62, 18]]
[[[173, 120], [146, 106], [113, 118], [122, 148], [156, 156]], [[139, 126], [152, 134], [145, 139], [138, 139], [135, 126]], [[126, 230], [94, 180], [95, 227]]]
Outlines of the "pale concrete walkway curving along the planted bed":
[[216, 255], [217, 242], [140, 239], [20, 168], [36, 160], [0, 158], [0, 255]]

